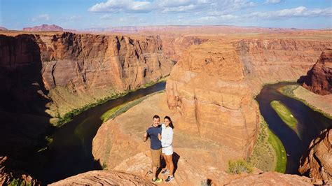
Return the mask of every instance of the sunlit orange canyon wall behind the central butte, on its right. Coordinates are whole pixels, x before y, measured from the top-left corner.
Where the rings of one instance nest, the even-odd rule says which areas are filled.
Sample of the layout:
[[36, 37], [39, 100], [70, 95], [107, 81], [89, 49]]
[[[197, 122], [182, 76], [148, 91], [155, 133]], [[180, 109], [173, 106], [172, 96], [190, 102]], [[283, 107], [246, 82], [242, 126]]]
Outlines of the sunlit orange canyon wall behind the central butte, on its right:
[[[294, 37], [295, 38], [295, 37]], [[244, 76], [254, 94], [264, 83], [294, 81], [316, 62], [331, 41], [291, 38], [244, 38], [235, 41], [244, 68]]]

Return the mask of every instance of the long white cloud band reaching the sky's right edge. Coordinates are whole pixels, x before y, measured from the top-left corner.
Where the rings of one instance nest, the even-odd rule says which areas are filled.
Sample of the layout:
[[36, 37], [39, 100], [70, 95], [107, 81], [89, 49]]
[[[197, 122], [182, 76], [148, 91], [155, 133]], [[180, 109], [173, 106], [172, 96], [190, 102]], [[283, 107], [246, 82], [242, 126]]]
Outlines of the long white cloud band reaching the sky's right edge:
[[331, 16], [332, 8], [312, 9], [309, 10], [305, 6], [297, 8], [282, 9], [270, 12], [250, 13], [247, 17], [260, 17], [264, 19], [279, 19], [284, 17], [314, 17], [314, 16]]

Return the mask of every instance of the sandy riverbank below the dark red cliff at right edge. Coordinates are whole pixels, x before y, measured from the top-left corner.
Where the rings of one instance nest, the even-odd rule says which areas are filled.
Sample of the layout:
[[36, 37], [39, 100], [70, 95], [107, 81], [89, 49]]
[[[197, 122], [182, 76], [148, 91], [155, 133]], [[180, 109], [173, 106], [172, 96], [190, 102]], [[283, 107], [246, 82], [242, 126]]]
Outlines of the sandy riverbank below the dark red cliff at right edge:
[[285, 96], [302, 101], [306, 106], [312, 108], [312, 110], [332, 119], [332, 94], [321, 96], [306, 90], [300, 85], [286, 85], [280, 88], [279, 92]]

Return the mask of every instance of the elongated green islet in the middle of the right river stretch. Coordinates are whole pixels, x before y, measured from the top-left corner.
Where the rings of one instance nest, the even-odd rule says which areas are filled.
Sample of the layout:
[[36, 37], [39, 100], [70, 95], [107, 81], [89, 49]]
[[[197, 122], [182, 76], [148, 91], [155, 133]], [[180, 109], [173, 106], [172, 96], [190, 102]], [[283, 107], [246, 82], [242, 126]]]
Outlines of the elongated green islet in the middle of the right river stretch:
[[282, 121], [284, 121], [284, 123], [291, 127], [291, 129], [296, 131], [296, 124], [298, 123], [298, 121], [291, 114], [291, 111], [280, 101], [273, 100], [271, 101], [270, 105], [275, 110], [275, 112], [277, 112]]

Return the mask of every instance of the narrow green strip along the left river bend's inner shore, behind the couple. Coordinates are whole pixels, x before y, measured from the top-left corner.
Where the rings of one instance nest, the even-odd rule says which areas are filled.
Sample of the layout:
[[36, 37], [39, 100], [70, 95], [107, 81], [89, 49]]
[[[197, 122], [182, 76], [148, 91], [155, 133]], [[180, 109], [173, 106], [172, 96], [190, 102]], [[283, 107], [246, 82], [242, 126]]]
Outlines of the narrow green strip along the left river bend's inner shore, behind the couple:
[[106, 113], [104, 113], [100, 119], [103, 121], [103, 122], [106, 122], [107, 120], [110, 120], [110, 119], [113, 119], [114, 117], [122, 114], [122, 113], [125, 113], [127, 110], [129, 110], [130, 108], [132, 108], [133, 106], [136, 106], [137, 104], [141, 103], [141, 101], [143, 101], [144, 99], [147, 99], [149, 96], [152, 96], [154, 94], [158, 94], [160, 92], [163, 92], [162, 91], [159, 91], [159, 92], [155, 92], [153, 94], [148, 94], [147, 96], [144, 96], [144, 97], [141, 97], [139, 99], [135, 99], [134, 101], [130, 101], [130, 102], [127, 102], [127, 103], [123, 103], [119, 106], [116, 106], [114, 108], [111, 108], [111, 110], [107, 110]]

